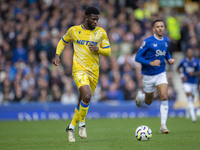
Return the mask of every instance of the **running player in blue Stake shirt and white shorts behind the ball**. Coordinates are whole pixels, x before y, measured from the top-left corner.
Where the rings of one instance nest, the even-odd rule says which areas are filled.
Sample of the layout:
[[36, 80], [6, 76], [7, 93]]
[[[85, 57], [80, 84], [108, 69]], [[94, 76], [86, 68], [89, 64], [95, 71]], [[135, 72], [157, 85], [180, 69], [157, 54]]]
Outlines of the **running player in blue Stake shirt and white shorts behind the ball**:
[[143, 102], [150, 105], [154, 98], [155, 88], [160, 96], [160, 132], [168, 134], [167, 115], [168, 115], [168, 97], [167, 97], [167, 77], [165, 71], [165, 60], [169, 64], [174, 64], [175, 60], [169, 53], [169, 40], [163, 36], [165, 24], [163, 20], [155, 20], [152, 23], [154, 35], [145, 39], [137, 52], [135, 60], [142, 65], [143, 90], [138, 91], [136, 104], [138, 107]]

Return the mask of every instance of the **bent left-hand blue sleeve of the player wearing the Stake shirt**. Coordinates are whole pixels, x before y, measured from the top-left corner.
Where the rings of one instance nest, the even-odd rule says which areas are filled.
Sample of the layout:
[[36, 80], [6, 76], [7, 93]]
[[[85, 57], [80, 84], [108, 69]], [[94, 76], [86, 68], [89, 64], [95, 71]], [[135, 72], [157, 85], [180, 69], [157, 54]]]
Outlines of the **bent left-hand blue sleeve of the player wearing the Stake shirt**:
[[146, 60], [143, 55], [145, 54], [145, 52], [147, 51], [148, 47], [146, 45], [146, 41], [142, 42], [142, 45], [140, 46], [140, 49], [138, 50], [136, 57], [135, 57], [135, 61], [141, 63], [141, 64], [146, 64], [149, 65], [149, 63], [151, 62], [150, 60]]

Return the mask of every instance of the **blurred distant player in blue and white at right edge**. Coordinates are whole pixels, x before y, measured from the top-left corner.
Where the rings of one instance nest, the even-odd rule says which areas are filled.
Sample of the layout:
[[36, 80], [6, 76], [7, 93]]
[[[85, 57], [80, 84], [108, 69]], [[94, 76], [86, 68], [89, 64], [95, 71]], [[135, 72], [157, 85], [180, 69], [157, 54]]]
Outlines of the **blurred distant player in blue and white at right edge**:
[[200, 64], [199, 60], [194, 57], [193, 50], [191, 48], [187, 50], [186, 55], [186, 58], [184, 58], [179, 64], [177, 71], [181, 74], [181, 68], [183, 69], [181, 77], [183, 89], [188, 99], [186, 113], [189, 112], [192, 121], [196, 122], [197, 118], [194, 110], [194, 96], [197, 92], [197, 76], [200, 75]]

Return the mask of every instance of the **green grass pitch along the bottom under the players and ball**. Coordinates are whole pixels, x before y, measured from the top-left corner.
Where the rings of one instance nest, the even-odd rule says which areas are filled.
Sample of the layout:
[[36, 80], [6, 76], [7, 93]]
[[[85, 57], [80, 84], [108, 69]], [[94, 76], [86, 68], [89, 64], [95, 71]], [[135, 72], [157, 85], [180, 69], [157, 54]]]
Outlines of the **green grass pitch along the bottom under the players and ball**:
[[[160, 118], [87, 120], [86, 140], [67, 141], [65, 128], [70, 120], [2, 121], [0, 150], [199, 150], [200, 121], [168, 118], [170, 134], [159, 133]], [[150, 141], [137, 141], [135, 129], [152, 129]]]

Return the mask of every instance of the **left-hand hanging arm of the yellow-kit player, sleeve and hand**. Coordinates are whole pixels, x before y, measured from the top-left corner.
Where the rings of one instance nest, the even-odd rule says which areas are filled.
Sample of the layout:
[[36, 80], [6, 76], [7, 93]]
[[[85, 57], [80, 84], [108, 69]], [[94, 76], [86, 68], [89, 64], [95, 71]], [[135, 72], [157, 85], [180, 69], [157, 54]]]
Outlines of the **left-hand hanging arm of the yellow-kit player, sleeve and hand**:
[[57, 48], [56, 48], [56, 54], [55, 57], [53, 59], [53, 64], [55, 66], [58, 66], [60, 63], [60, 54], [62, 53], [62, 51], [65, 48], [65, 45], [71, 41], [71, 28], [67, 31], [67, 33], [60, 39], [60, 41], [57, 44]]

